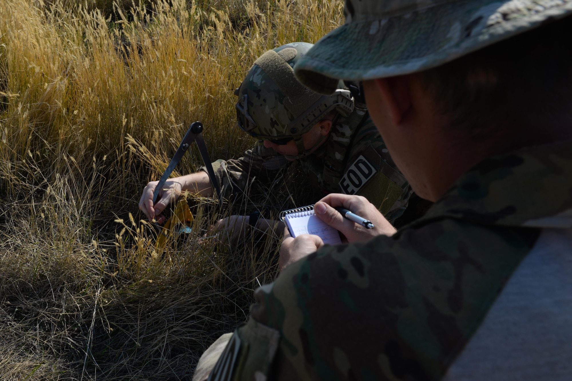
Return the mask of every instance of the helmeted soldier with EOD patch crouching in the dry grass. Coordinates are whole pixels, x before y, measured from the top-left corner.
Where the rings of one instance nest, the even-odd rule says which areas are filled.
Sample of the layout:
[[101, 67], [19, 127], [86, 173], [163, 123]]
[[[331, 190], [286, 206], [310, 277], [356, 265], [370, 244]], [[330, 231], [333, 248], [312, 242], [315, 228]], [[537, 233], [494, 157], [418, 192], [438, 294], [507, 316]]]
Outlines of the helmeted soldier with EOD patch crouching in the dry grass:
[[[394, 162], [360, 99], [342, 81], [332, 94], [313, 92], [296, 80], [293, 66], [313, 45], [288, 43], [259, 57], [235, 90], [237, 124], [259, 139], [244, 156], [212, 163], [223, 197], [243, 192], [253, 177], [271, 182], [290, 162], [298, 160], [316, 190], [366, 197], [394, 221], [402, 215], [411, 188]], [[189, 190], [212, 194], [205, 168], [199, 173], [170, 179], [156, 205], [151, 197], [157, 182], [150, 182], [140, 208], [162, 222], [161, 211]], [[219, 226], [247, 223], [250, 217], [232, 216]], [[247, 220], [248, 219], [248, 220]], [[273, 225], [260, 219], [258, 228]]]

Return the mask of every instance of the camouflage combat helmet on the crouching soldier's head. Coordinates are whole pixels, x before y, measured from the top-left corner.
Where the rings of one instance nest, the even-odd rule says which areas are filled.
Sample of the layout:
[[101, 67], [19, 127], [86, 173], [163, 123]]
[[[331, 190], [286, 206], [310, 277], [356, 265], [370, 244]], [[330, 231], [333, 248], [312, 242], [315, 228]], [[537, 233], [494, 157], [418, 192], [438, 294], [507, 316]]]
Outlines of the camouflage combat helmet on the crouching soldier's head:
[[291, 158], [309, 154], [314, 147], [306, 150], [301, 136], [331, 110], [336, 109], [343, 116], [353, 112], [353, 97], [343, 88], [343, 82], [332, 94], [323, 95], [296, 80], [292, 68], [312, 46], [312, 43], [293, 42], [268, 50], [255, 61], [235, 90], [239, 97], [236, 104], [239, 128], [275, 144], [294, 140], [298, 154]]

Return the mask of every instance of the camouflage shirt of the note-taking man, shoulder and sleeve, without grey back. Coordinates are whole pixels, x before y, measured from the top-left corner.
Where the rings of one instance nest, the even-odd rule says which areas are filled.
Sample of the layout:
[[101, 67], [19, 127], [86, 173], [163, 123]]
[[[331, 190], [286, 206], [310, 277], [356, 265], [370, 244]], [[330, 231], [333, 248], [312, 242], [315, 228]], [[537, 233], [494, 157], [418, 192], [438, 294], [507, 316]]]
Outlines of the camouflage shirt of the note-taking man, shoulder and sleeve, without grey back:
[[572, 142], [488, 158], [396, 235], [324, 247], [257, 289], [215, 375], [438, 380], [539, 235], [572, 227], [570, 208]]

